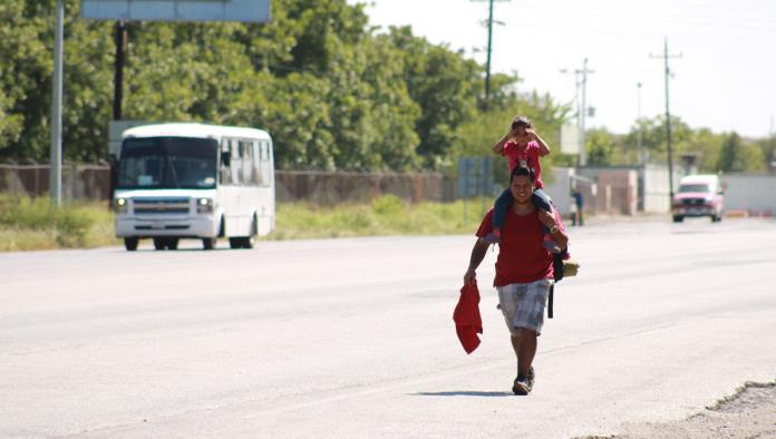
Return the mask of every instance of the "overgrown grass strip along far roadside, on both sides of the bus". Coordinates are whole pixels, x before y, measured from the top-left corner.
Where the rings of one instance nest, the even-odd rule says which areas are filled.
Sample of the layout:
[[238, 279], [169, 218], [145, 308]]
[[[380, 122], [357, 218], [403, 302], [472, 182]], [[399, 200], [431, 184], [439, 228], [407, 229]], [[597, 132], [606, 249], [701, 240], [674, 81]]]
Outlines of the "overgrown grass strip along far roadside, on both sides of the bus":
[[[482, 214], [479, 199], [466, 206], [463, 201], [409, 204], [394, 195], [329, 207], [279, 203], [275, 230], [266, 238], [474, 234]], [[105, 203], [68, 203], [55, 208], [43, 197], [0, 195], [0, 251], [109, 245], [122, 245], [122, 241], [115, 236], [114, 215]]]

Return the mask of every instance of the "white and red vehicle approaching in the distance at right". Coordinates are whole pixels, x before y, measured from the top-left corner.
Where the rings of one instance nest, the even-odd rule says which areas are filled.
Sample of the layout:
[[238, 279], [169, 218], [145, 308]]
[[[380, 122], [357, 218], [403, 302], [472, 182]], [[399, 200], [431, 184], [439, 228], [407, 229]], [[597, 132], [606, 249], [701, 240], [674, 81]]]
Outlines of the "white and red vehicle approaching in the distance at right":
[[679, 191], [671, 201], [675, 223], [687, 216], [708, 216], [712, 222], [722, 220], [725, 194], [719, 177], [709, 175], [688, 175], [679, 182]]

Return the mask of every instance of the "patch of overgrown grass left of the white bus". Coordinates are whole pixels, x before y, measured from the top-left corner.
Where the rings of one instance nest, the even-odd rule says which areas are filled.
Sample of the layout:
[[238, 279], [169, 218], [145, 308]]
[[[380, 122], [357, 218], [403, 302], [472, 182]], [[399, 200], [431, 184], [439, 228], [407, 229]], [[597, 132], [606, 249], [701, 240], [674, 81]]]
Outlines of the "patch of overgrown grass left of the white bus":
[[0, 195], [0, 251], [88, 248], [117, 245], [104, 203], [67, 203]]

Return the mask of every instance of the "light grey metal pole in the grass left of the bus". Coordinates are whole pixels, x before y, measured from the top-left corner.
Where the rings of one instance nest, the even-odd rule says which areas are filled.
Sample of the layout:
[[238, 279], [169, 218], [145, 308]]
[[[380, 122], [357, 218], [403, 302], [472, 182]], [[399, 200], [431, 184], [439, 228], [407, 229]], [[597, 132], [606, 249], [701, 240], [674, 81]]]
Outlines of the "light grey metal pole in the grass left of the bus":
[[49, 170], [49, 197], [55, 206], [62, 203], [62, 39], [65, 0], [57, 0], [54, 28], [54, 90], [51, 99], [51, 154]]

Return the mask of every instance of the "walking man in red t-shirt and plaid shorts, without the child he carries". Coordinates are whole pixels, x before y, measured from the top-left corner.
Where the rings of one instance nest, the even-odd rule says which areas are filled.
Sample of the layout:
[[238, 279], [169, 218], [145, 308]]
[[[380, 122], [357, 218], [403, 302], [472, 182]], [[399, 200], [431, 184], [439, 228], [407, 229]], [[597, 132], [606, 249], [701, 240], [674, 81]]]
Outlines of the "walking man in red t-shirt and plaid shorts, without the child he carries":
[[[561, 248], [568, 246], [569, 237], [559, 228], [552, 214], [536, 209], [531, 202], [534, 191], [531, 169], [515, 167], [510, 176], [510, 191], [514, 202], [502, 230], [493, 283], [517, 357], [517, 378], [512, 391], [528, 394], [535, 380], [531, 364], [536, 354], [536, 338], [542, 332], [544, 306], [553, 283], [552, 254], [542, 245], [542, 224], [550, 228], [552, 238]], [[476, 270], [487, 252], [488, 243], [483, 237], [493, 228], [492, 216], [493, 209], [477, 230], [478, 238], [464, 275], [467, 284], [476, 281]]]

